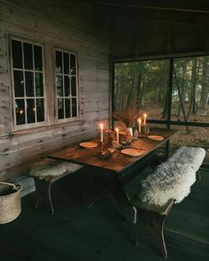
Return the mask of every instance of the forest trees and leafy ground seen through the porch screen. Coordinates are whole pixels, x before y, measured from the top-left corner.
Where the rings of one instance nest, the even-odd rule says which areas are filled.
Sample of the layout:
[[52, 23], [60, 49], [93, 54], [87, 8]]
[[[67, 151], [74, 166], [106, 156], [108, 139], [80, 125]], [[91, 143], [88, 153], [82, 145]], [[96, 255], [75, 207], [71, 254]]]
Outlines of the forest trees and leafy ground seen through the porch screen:
[[[169, 97], [170, 82], [172, 92]], [[172, 101], [170, 115], [167, 112], [169, 98]], [[174, 58], [171, 73], [169, 58], [114, 65], [113, 111], [125, 111], [130, 104], [135, 103], [141, 118], [143, 113], [147, 113], [148, 120], [166, 122], [170, 119], [171, 127], [179, 129], [171, 141], [174, 147], [184, 143], [202, 146], [209, 151], [209, 127], [190, 126], [190, 123], [209, 126], [208, 101], [208, 56]], [[177, 126], [175, 123], [185, 126]]]

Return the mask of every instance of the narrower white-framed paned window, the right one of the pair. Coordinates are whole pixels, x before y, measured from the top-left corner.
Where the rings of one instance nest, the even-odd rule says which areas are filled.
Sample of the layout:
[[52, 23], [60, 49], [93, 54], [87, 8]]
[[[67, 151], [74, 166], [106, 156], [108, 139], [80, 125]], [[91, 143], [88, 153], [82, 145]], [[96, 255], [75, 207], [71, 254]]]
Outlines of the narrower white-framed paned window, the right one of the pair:
[[77, 54], [56, 49], [56, 96], [58, 122], [78, 119]]

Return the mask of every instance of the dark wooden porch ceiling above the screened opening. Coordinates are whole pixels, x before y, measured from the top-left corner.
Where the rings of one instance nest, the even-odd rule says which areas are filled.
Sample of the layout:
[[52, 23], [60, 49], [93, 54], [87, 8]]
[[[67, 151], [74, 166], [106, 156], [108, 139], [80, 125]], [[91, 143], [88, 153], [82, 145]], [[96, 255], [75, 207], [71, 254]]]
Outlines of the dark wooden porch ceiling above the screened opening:
[[209, 51], [209, 1], [96, 0], [109, 24], [113, 59]]

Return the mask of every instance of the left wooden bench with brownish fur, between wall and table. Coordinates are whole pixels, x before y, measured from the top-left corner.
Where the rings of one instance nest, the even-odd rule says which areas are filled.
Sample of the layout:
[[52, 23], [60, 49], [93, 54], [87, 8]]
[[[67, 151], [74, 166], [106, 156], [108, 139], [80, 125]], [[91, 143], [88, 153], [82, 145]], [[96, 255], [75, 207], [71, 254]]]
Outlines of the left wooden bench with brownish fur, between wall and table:
[[81, 167], [81, 165], [51, 158], [43, 158], [43, 160], [31, 165], [27, 176], [35, 180], [35, 208], [38, 207], [39, 203], [43, 202], [50, 206], [50, 211], [53, 215], [54, 207], [50, 192], [51, 183], [70, 173], [75, 173], [81, 169]]

